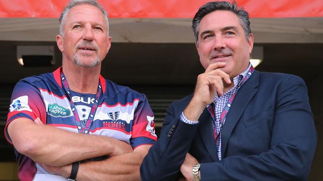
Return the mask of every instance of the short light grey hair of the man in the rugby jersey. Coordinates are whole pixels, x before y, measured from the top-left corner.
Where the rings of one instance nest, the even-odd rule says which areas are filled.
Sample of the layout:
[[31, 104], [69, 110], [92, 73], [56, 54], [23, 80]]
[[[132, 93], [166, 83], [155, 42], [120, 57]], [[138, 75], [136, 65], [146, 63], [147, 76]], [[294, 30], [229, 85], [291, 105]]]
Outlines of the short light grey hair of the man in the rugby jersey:
[[98, 9], [100, 9], [100, 11], [103, 13], [104, 19], [106, 21], [106, 26], [108, 28], [107, 33], [109, 36], [109, 20], [108, 20], [108, 13], [104, 10], [104, 8], [102, 7], [101, 4], [99, 4], [96, 0], [71, 0], [63, 9], [61, 16], [60, 16], [60, 35], [62, 35], [64, 37], [64, 31], [63, 31], [63, 25], [66, 19], [66, 15], [68, 14], [68, 12], [70, 11], [71, 8], [77, 6], [77, 5], [81, 5], [81, 4], [89, 4], [92, 5], [94, 7], [97, 7]]

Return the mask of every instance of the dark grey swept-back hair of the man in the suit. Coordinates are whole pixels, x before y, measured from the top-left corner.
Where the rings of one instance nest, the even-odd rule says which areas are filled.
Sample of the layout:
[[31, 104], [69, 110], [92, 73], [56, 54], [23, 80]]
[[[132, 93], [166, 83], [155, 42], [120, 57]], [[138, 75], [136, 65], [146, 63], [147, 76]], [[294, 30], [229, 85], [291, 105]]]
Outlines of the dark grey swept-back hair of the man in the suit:
[[239, 18], [240, 24], [242, 25], [246, 40], [249, 41], [249, 35], [252, 32], [250, 29], [250, 20], [249, 20], [248, 12], [245, 11], [243, 7], [238, 8], [237, 2], [235, 0], [232, 3], [227, 1], [215, 1], [215, 2], [208, 2], [203, 6], [201, 6], [192, 20], [192, 29], [195, 37], [195, 44], [197, 46], [198, 46], [198, 34], [199, 34], [198, 29], [202, 18], [205, 15], [216, 10], [227, 10], [235, 13]]

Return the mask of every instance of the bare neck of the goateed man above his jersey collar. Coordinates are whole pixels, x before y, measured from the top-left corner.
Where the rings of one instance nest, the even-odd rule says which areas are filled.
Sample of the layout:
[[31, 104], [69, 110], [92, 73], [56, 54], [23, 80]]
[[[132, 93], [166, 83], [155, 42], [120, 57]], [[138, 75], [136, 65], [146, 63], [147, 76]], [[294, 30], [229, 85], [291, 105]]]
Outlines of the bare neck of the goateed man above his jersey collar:
[[63, 63], [63, 72], [70, 90], [79, 93], [96, 93], [99, 83], [101, 66], [85, 68], [79, 65], [69, 66]]

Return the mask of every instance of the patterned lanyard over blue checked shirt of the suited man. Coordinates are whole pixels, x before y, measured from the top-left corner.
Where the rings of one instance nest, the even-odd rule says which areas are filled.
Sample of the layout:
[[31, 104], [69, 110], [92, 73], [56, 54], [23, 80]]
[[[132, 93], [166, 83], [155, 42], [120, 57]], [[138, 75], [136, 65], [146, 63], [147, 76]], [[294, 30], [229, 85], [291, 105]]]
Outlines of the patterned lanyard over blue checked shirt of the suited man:
[[227, 118], [227, 115], [228, 115], [228, 112], [230, 110], [230, 107], [231, 107], [231, 104], [233, 102], [233, 100], [235, 99], [235, 96], [238, 92], [238, 90], [241, 88], [241, 86], [250, 78], [250, 76], [252, 75], [254, 71], [254, 68], [251, 66], [249, 68], [249, 71], [248, 73], [243, 77], [242, 81], [238, 84], [238, 87], [237, 89], [235, 90], [235, 92], [233, 93], [233, 95], [229, 98], [228, 102], [226, 103], [225, 107], [223, 108], [223, 111], [221, 113], [221, 116], [220, 116], [220, 125], [219, 125], [219, 133], [217, 131], [217, 126], [216, 126], [216, 118], [215, 118], [215, 107], [213, 108], [213, 106], [208, 105], [207, 109], [209, 111], [209, 113], [211, 114], [211, 117], [215, 123], [215, 128], [214, 128], [214, 138], [215, 138], [215, 144], [217, 147], [221, 146], [220, 145], [220, 137], [221, 137], [221, 131], [222, 131], [222, 127], [223, 127], [223, 124], [224, 124], [224, 121], [225, 119]]

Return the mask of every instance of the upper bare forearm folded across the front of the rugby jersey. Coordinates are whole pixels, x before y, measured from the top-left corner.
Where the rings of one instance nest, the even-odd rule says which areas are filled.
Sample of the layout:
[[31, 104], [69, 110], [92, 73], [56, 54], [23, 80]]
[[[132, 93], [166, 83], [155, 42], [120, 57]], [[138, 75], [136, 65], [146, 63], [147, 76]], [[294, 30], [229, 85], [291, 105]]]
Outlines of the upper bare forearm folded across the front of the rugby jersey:
[[18, 152], [35, 162], [51, 166], [68, 165], [102, 155], [123, 154], [123, 149], [120, 148], [126, 144], [110, 137], [82, 135], [51, 126], [36, 125], [27, 119], [14, 120], [8, 126], [8, 133]]

